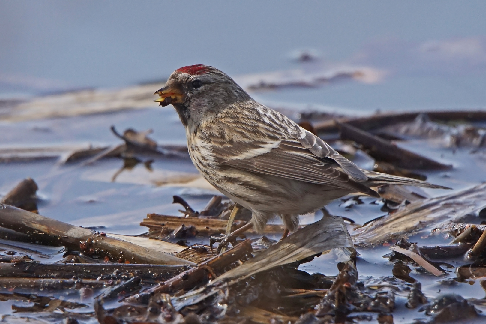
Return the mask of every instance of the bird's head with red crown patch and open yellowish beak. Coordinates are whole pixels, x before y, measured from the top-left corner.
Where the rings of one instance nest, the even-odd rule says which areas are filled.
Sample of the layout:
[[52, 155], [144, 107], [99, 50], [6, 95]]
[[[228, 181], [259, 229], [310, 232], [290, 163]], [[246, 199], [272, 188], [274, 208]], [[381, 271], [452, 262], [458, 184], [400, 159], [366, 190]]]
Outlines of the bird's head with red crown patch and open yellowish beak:
[[161, 106], [174, 106], [184, 126], [199, 124], [232, 103], [251, 100], [228, 75], [206, 65], [176, 69], [154, 94]]

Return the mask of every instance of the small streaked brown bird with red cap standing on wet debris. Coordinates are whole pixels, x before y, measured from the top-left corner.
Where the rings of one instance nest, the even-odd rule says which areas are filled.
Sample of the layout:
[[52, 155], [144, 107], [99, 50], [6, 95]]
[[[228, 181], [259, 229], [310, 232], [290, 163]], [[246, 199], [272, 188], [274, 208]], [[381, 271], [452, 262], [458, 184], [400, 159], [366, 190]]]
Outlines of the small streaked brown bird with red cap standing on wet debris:
[[362, 170], [295, 121], [257, 101], [221, 70], [191, 65], [175, 70], [154, 94], [172, 104], [186, 130], [191, 160], [226, 197], [252, 212], [263, 233], [280, 217], [294, 232], [299, 215], [347, 194], [380, 198], [386, 184], [446, 188]]

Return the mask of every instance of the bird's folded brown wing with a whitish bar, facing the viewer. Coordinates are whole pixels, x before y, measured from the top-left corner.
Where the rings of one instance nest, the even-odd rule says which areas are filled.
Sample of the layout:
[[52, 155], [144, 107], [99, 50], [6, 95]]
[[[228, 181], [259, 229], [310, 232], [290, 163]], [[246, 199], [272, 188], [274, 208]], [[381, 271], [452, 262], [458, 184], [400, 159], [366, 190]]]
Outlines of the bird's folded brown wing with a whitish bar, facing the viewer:
[[214, 153], [222, 167], [330, 185], [377, 196], [375, 191], [349, 177], [339, 162], [334, 160], [334, 155], [330, 155], [330, 158], [319, 157], [305, 148], [298, 139], [239, 142], [222, 150], [216, 149]]

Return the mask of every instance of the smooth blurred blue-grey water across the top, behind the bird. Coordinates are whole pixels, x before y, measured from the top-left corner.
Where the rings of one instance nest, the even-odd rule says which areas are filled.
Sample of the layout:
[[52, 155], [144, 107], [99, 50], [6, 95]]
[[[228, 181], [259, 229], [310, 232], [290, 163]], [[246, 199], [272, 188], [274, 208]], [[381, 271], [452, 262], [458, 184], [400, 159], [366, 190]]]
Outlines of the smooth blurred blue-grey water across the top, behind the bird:
[[480, 107], [485, 17], [484, 0], [0, 0], [0, 95], [131, 85], [201, 63], [285, 70], [292, 51], [312, 49], [390, 75], [381, 87], [311, 91], [312, 102]]

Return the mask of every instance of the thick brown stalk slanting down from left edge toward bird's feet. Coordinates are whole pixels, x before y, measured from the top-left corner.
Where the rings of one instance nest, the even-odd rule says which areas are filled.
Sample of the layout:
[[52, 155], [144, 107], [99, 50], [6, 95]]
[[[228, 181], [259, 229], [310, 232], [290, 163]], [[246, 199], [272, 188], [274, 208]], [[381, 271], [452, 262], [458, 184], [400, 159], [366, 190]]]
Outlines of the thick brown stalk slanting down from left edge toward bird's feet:
[[16, 207], [0, 204], [0, 226], [28, 234], [34, 238], [49, 240], [89, 256], [107, 257], [114, 262], [143, 264], [194, 263], [167, 253], [151, 250], [120, 239], [107, 237], [83, 227], [59, 222]]

